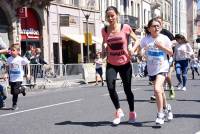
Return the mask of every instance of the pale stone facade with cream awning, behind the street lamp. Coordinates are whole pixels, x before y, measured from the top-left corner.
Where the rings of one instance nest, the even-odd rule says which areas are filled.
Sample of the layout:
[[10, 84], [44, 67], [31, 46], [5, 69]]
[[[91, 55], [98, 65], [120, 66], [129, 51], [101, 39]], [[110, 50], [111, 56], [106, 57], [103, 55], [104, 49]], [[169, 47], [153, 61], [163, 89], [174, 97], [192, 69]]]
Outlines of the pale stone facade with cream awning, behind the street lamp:
[[88, 45], [84, 39], [87, 30], [92, 34], [89, 58], [94, 59], [96, 46], [101, 42], [99, 26], [102, 23], [97, 0], [94, 3], [86, 0], [55, 1], [50, 5], [48, 15], [51, 63], [87, 62]]

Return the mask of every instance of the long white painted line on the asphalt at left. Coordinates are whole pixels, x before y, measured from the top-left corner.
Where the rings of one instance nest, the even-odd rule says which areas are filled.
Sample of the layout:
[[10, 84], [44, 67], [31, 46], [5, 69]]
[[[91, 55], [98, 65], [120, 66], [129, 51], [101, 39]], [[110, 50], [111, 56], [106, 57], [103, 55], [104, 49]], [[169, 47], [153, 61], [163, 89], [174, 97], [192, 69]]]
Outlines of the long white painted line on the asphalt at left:
[[25, 112], [35, 111], [35, 110], [39, 110], [39, 109], [44, 109], [44, 108], [55, 107], [55, 106], [59, 106], [59, 105], [64, 105], [64, 104], [69, 104], [69, 103], [74, 103], [74, 102], [79, 102], [79, 101], [82, 101], [82, 100], [83, 99], [66, 101], [66, 102], [61, 102], [61, 103], [57, 103], [57, 104], [52, 104], [52, 105], [41, 106], [41, 107], [36, 107], [36, 108], [32, 108], [32, 109], [17, 111], [17, 112], [13, 112], [13, 113], [9, 113], [9, 114], [2, 114], [2, 115], [0, 115], [0, 118], [1, 117], [6, 117], [6, 116], [10, 116], [10, 115], [19, 114], [19, 113], [25, 113]]

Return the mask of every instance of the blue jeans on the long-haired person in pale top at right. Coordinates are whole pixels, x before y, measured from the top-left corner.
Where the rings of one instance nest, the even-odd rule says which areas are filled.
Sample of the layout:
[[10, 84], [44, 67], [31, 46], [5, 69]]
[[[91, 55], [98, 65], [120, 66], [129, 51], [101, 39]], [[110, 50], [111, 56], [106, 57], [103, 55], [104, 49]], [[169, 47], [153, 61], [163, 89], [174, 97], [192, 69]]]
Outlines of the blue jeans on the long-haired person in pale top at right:
[[[183, 84], [183, 87], [186, 86], [186, 82], [187, 82], [188, 62], [189, 62], [188, 59], [175, 62], [176, 77], [179, 83]], [[181, 79], [181, 76], [182, 76], [182, 79]]]

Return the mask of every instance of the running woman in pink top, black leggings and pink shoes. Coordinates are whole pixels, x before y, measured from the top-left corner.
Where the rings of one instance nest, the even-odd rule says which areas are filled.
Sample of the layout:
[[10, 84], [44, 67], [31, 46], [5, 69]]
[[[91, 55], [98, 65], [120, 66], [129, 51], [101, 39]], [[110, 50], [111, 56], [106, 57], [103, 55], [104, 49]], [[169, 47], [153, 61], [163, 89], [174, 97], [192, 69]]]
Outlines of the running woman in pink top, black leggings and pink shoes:
[[102, 29], [103, 53], [107, 56], [107, 88], [116, 109], [113, 124], [118, 125], [124, 116], [115, 86], [118, 73], [122, 79], [124, 92], [129, 104], [129, 123], [134, 123], [136, 112], [134, 109], [134, 95], [131, 91], [132, 66], [130, 54], [134, 52], [130, 52], [132, 48], [128, 49], [128, 39], [130, 36], [135, 41], [135, 44], [138, 44], [139, 40], [128, 24], [122, 25], [118, 23], [119, 12], [116, 7], [109, 6], [105, 13], [109, 25]]

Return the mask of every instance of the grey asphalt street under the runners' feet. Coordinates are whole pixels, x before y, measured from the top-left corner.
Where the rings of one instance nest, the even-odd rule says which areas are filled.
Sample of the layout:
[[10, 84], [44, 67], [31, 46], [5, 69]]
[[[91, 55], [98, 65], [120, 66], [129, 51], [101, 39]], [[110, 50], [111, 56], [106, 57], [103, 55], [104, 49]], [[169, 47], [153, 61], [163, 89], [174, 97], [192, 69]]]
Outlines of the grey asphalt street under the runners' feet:
[[[191, 78], [191, 77], [190, 77]], [[19, 97], [19, 110], [0, 110], [1, 134], [195, 134], [200, 131], [200, 81], [188, 81], [187, 91], [176, 90], [176, 100], [169, 100], [174, 120], [156, 127], [156, 104], [147, 78], [133, 80], [137, 121], [130, 125], [128, 116], [119, 126], [112, 126], [114, 106], [106, 86], [81, 85], [66, 89], [31, 91]], [[128, 115], [122, 87], [117, 84], [121, 107]], [[176, 84], [176, 80], [174, 80]], [[168, 96], [168, 94], [167, 94]]]

